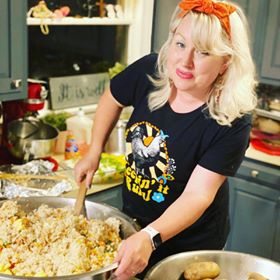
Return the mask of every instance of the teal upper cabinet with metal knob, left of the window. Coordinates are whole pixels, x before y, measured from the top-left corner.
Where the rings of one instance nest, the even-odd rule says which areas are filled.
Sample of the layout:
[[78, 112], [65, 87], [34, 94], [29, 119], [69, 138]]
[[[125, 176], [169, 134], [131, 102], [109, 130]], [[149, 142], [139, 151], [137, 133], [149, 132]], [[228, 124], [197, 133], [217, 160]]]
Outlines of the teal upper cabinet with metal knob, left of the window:
[[26, 0], [0, 1], [0, 101], [27, 96]]

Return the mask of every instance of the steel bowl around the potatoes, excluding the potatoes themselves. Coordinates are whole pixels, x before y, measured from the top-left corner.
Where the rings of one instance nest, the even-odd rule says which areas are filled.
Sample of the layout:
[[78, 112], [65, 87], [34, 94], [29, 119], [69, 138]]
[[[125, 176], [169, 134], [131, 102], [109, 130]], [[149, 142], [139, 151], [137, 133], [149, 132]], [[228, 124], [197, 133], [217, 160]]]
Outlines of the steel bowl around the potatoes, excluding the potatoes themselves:
[[213, 261], [221, 268], [218, 279], [247, 280], [250, 272], [257, 272], [270, 280], [280, 277], [280, 264], [254, 255], [230, 251], [191, 251], [172, 255], [147, 273], [146, 280], [179, 280], [188, 264]]

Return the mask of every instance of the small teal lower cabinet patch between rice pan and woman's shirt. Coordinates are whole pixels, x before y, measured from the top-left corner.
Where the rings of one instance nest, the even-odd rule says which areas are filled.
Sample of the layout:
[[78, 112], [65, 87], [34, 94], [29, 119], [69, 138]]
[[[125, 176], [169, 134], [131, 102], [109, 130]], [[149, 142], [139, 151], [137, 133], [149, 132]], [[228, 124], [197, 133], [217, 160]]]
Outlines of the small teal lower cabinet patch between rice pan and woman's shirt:
[[86, 200], [106, 203], [110, 206], [122, 209], [122, 189], [121, 186], [112, 187], [86, 197]]

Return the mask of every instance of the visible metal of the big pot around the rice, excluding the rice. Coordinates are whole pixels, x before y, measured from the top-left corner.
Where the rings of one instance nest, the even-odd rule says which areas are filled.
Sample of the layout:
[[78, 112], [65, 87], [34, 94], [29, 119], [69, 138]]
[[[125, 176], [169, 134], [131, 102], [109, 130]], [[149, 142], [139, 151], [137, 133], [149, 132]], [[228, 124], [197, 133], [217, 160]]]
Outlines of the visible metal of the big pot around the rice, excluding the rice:
[[[53, 208], [60, 208], [65, 206], [73, 206], [75, 204], [75, 199], [72, 198], [62, 198], [62, 197], [28, 197], [17, 199], [18, 203], [23, 207], [26, 212], [30, 212], [33, 209], [38, 208], [42, 204], [47, 204]], [[0, 201], [0, 207], [3, 201]], [[124, 213], [120, 212], [117, 208], [95, 203], [91, 201], [86, 201], [86, 210], [88, 218], [96, 219], [106, 219], [108, 217], [116, 217], [121, 221], [121, 237], [123, 239], [135, 233], [139, 228], [137, 224], [133, 221], [132, 218], [128, 217]], [[98, 269], [92, 272], [69, 275], [69, 276], [57, 276], [57, 277], [19, 277], [11, 276], [0, 273], [0, 279], [36, 279], [36, 280], [108, 280], [112, 274], [113, 269], [116, 268], [116, 265], [106, 266], [102, 269]]]

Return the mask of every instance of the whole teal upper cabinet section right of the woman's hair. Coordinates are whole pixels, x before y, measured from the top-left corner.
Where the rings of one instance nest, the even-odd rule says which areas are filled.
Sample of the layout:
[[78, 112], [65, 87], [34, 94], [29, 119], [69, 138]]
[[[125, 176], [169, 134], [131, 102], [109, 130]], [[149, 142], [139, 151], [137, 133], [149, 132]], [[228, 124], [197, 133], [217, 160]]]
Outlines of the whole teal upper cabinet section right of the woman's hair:
[[259, 80], [280, 85], [280, 1], [236, 0], [244, 9], [252, 34]]

